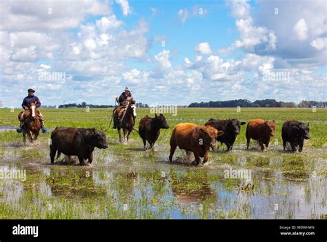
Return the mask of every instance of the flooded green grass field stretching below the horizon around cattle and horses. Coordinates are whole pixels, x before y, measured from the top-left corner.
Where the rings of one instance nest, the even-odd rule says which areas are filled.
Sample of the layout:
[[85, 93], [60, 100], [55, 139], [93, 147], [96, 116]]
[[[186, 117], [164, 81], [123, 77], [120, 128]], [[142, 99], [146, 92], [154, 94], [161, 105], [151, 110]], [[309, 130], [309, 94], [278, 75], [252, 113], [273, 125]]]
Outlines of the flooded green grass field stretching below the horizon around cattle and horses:
[[[18, 125], [17, 114], [0, 109], [0, 125]], [[95, 150], [91, 166], [50, 165], [48, 134], [36, 145], [22, 145], [17, 132], [0, 132], [0, 170], [25, 169], [26, 181], [0, 179], [0, 219], [324, 219], [326, 218], [327, 110], [179, 108], [165, 114], [170, 128], [161, 130], [155, 150], [143, 152], [137, 132], [120, 145], [117, 130], [106, 130], [112, 109], [44, 109], [47, 128], [103, 128], [109, 148]], [[137, 110], [137, 123], [150, 109]], [[246, 125], [232, 152], [210, 153], [204, 167], [186, 164], [178, 150], [168, 163], [172, 128], [180, 122], [204, 124], [210, 118], [248, 122], [277, 121], [276, 136], [264, 152], [252, 142], [245, 149]], [[282, 152], [281, 125], [288, 119], [310, 123], [310, 139], [299, 154]], [[275, 140], [276, 139], [276, 140]], [[191, 157], [192, 160], [192, 157]], [[255, 189], [239, 191], [242, 179], [225, 179], [224, 170], [252, 171]], [[131, 171], [137, 177], [128, 178]], [[279, 210], [275, 210], [275, 204]]]

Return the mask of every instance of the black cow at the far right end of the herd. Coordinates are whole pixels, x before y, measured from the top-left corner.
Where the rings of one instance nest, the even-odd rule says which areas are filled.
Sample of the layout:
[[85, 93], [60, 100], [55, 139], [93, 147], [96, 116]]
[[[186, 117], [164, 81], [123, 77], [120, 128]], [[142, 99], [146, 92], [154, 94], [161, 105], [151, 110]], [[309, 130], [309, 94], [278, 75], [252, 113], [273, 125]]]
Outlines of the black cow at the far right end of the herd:
[[309, 139], [309, 123], [301, 123], [299, 121], [286, 121], [281, 128], [281, 138], [283, 139], [283, 147], [286, 149], [286, 142], [290, 143], [293, 152], [297, 150], [299, 145], [299, 152], [303, 149], [304, 139]]

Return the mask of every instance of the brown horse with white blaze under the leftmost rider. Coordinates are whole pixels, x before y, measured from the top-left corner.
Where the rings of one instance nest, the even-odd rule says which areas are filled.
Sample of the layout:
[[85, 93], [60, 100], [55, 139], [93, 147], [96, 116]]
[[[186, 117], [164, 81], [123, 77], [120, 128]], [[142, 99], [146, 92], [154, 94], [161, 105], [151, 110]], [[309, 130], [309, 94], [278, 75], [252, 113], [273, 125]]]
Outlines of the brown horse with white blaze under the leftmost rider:
[[[37, 112], [37, 103], [31, 103], [30, 108], [23, 112], [25, 123], [23, 124], [23, 127], [21, 129], [23, 130], [24, 144], [26, 144], [26, 134], [28, 134], [28, 139], [31, 143], [36, 141], [37, 137], [39, 136], [41, 125], [39, 117], [37, 117]], [[19, 113], [18, 115], [19, 120], [21, 113]]]

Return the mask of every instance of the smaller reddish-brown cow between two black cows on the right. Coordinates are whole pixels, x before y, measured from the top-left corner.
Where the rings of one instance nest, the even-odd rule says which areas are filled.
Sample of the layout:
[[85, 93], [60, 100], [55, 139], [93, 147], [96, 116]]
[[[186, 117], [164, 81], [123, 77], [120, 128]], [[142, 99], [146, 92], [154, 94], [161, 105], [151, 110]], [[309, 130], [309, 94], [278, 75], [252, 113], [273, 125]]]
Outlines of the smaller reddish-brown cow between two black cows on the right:
[[268, 148], [270, 137], [275, 136], [275, 120], [264, 121], [262, 119], [252, 119], [246, 127], [246, 148], [250, 144], [250, 139], [259, 141], [261, 150], [264, 151], [264, 144]]

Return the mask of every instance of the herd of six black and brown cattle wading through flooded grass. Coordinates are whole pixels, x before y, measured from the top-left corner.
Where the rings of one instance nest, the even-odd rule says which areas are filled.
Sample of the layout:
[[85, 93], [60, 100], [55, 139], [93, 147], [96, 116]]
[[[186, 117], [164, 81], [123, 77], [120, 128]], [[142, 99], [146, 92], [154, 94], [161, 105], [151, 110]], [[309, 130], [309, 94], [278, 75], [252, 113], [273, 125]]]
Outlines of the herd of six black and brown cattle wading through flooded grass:
[[[177, 147], [186, 152], [193, 152], [195, 163], [200, 164], [208, 161], [210, 148], [215, 148], [216, 141], [225, 143], [227, 150], [232, 150], [237, 135], [241, 131], [241, 125], [237, 119], [210, 119], [205, 125], [196, 125], [194, 123], [179, 123], [172, 130], [170, 138], [170, 155], [169, 161]], [[163, 114], [155, 114], [154, 118], [143, 117], [139, 122], [139, 135], [143, 140], [144, 150], [146, 150], [146, 141], [150, 148], [157, 141], [160, 129], [168, 129], [166, 118]], [[264, 121], [261, 119], [252, 119], [246, 127], [246, 143], [247, 149], [250, 139], [259, 142], [261, 150], [264, 145], [268, 148], [270, 137], [275, 136], [275, 121]], [[281, 129], [281, 137], [283, 139], [284, 150], [286, 142], [290, 143], [293, 152], [299, 146], [299, 152], [302, 151], [304, 139], [309, 139], [309, 124], [299, 121], [286, 121]], [[99, 149], [108, 148], [106, 134], [101, 130], [85, 129], [85, 128], [56, 128], [51, 134], [50, 143], [50, 159], [54, 163], [54, 157], [61, 153], [68, 156], [77, 156], [80, 165], [85, 165], [84, 161], [88, 159], [88, 163], [92, 163], [92, 152], [95, 147]], [[200, 158], [201, 157], [201, 158]]]

